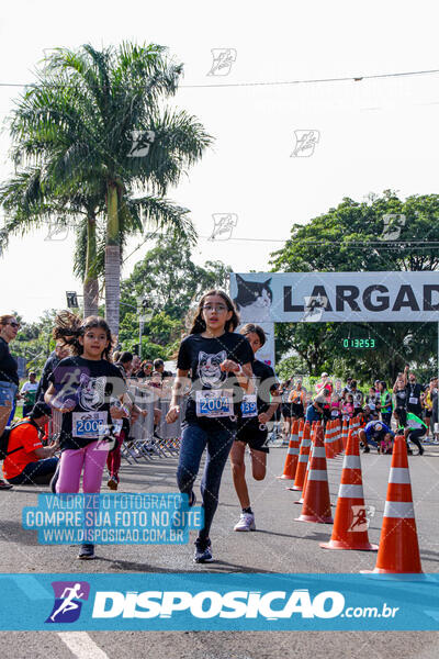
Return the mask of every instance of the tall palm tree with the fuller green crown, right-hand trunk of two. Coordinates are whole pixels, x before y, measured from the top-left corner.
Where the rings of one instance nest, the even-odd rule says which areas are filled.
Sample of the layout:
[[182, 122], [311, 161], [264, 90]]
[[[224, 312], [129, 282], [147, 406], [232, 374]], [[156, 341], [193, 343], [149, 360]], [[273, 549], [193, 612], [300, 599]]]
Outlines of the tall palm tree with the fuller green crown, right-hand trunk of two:
[[[212, 139], [195, 118], [162, 107], [162, 99], [177, 92], [182, 75], [182, 65], [170, 62], [162, 46], [123, 43], [103, 51], [90, 45], [78, 52], [59, 48], [45, 65], [38, 83], [22, 97], [13, 113], [12, 156], [25, 163], [20, 175], [25, 177], [31, 167], [38, 169], [37, 203], [45, 206], [44, 212], [50, 202], [61, 205], [66, 198], [68, 210], [75, 211], [78, 206], [72, 200], [78, 190], [98, 202], [81, 206], [90, 215], [79, 242], [83, 248], [83, 236], [88, 236], [89, 266], [94, 270], [99, 270], [100, 259], [93, 257], [95, 233], [90, 225], [99, 223], [103, 204], [105, 314], [117, 335], [123, 244], [143, 231], [145, 222], [194, 239], [188, 210], [165, 196]], [[11, 200], [13, 182], [0, 191], [3, 204]], [[23, 188], [21, 192], [25, 194]], [[15, 230], [19, 224], [25, 228], [37, 221], [15, 208]], [[79, 257], [80, 249], [77, 269]]]

